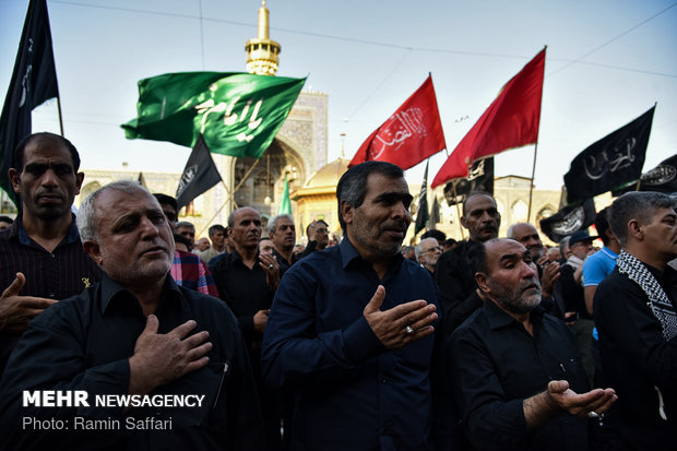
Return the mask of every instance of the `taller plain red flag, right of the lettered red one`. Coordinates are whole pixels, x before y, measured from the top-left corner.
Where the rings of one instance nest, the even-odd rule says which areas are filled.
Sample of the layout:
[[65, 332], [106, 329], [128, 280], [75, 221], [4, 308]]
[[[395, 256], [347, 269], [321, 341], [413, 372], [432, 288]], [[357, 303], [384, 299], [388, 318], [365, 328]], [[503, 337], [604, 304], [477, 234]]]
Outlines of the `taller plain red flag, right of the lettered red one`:
[[432, 180], [431, 188], [467, 177], [474, 161], [538, 141], [545, 49], [501, 90], [461, 140]]

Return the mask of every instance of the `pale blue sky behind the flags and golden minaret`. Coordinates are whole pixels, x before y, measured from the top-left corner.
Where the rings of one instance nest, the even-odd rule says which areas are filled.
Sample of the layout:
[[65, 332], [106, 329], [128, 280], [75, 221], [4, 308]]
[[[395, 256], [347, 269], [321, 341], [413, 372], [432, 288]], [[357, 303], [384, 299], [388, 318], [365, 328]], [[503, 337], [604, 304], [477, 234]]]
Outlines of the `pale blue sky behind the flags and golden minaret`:
[[[260, 0], [48, 0], [64, 133], [82, 167], [181, 173], [190, 149], [127, 140], [136, 82], [245, 71]], [[0, 0], [7, 95], [27, 0]], [[559, 190], [571, 159], [657, 104], [644, 170], [677, 153], [674, 0], [269, 0], [278, 75], [329, 95], [328, 161], [363, 141], [428, 76], [451, 153], [500, 88], [547, 46], [535, 186]], [[4, 98], [4, 97], [3, 97]], [[34, 131], [59, 131], [56, 103]], [[342, 139], [345, 133], [345, 139]], [[431, 180], [447, 154], [430, 158]], [[531, 177], [534, 146], [496, 158]], [[123, 167], [123, 164], [127, 165]], [[425, 163], [407, 170], [417, 183]]]

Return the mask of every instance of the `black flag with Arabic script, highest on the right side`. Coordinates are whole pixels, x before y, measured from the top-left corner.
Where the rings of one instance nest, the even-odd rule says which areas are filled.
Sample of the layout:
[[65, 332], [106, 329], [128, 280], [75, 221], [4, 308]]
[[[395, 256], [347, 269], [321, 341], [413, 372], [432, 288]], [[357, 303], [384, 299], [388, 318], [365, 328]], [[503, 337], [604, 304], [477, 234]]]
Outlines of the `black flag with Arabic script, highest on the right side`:
[[565, 175], [568, 203], [593, 198], [639, 180], [655, 109], [654, 106], [573, 158], [569, 173]]

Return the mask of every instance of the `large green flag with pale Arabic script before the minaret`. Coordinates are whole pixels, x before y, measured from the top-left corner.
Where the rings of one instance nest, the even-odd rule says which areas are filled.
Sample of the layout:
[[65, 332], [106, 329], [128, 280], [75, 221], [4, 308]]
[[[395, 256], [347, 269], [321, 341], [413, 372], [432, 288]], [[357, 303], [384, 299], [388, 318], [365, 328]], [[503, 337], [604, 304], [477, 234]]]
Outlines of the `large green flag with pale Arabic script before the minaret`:
[[187, 147], [193, 147], [202, 133], [213, 153], [259, 158], [305, 82], [234, 72], [166, 73], [139, 82], [139, 117], [121, 127], [130, 140]]

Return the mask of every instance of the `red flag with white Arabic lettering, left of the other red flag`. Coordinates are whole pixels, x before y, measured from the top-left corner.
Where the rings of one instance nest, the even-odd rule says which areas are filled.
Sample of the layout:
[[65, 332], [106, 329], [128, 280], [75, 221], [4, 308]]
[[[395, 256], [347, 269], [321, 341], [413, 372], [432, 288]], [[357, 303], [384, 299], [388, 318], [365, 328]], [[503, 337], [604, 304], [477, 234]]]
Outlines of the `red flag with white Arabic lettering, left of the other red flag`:
[[359, 146], [348, 167], [376, 159], [408, 169], [446, 147], [432, 75], [428, 75], [424, 84]]

